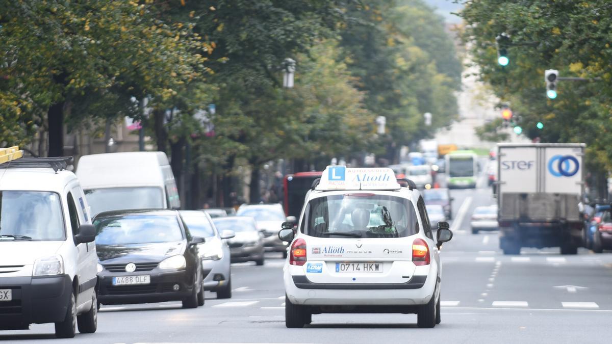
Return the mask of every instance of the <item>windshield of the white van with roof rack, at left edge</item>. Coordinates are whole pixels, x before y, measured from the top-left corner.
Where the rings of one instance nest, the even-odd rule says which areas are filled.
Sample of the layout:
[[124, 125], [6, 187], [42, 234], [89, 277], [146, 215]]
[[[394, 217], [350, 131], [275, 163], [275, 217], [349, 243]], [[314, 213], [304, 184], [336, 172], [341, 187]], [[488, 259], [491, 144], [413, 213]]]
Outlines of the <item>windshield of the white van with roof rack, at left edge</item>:
[[64, 239], [64, 217], [57, 193], [0, 191], [0, 241]]

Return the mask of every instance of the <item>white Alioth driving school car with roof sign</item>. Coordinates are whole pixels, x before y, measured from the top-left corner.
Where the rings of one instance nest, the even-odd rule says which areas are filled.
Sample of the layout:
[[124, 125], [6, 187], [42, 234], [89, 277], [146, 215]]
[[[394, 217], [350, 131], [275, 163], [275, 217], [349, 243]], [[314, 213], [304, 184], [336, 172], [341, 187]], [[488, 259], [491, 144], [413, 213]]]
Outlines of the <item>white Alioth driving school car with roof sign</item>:
[[[403, 185], [400, 185], [400, 184]], [[284, 267], [285, 324], [320, 313], [416, 313], [419, 327], [440, 323], [439, 247], [414, 182], [389, 168], [327, 166], [306, 195]]]

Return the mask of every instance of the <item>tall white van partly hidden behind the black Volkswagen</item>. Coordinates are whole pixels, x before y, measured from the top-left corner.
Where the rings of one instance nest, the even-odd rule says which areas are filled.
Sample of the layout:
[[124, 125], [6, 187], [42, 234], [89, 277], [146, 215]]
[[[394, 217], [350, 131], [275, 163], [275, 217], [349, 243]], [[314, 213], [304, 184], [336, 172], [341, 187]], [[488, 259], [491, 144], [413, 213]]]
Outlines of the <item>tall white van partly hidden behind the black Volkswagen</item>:
[[76, 176], [94, 215], [121, 209], [181, 208], [164, 152], [83, 155]]

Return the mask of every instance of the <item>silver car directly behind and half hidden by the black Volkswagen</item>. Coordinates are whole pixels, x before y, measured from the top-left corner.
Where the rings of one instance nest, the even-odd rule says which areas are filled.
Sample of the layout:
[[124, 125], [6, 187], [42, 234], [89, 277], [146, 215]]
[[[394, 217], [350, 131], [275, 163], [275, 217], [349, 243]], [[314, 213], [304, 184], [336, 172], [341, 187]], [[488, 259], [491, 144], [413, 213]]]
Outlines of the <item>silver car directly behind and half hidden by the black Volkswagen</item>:
[[182, 210], [181, 217], [190, 233], [206, 239], [198, 245], [202, 260], [202, 277], [204, 290], [217, 293], [217, 299], [231, 297], [230, 247], [225, 239], [231, 239], [234, 231], [217, 231], [211, 216], [203, 211]]

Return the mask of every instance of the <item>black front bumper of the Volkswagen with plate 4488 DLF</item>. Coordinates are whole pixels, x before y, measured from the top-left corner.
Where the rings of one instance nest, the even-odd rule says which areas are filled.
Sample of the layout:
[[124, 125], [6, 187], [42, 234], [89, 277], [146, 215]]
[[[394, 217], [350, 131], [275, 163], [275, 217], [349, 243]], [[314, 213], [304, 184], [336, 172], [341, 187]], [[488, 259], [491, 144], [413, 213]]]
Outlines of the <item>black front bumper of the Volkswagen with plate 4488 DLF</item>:
[[[105, 305], [182, 301], [193, 291], [195, 281], [187, 270], [147, 272], [149, 271], [136, 272], [132, 275], [151, 275], [151, 283], [126, 286], [113, 286], [113, 277], [127, 274], [101, 272], [98, 275], [100, 283], [98, 301]], [[178, 291], [174, 291], [174, 285], [179, 285]]]

